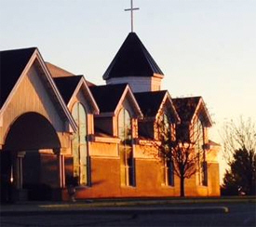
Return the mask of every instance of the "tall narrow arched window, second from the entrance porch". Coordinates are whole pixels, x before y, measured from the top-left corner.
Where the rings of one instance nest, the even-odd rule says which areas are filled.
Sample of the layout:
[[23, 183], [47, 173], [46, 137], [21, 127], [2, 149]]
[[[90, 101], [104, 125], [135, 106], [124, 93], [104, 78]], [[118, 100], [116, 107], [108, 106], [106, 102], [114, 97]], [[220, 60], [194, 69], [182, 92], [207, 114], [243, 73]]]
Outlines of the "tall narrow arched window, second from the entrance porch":
[[121, 184], [135, 185], [135, 163], [132, 155], [131, 144], [131, 118], [126, 109], [122, 109], [118, 115], [118, 136], [120, 138], [119, 154], [121, 165]]

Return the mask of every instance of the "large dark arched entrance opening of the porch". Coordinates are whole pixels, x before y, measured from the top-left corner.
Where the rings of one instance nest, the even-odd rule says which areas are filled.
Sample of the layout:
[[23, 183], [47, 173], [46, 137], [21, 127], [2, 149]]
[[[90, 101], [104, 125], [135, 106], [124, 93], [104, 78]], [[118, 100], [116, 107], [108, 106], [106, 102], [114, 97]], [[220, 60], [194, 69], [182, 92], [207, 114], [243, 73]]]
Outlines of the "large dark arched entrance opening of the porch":
[[7, 132], [1, 152], [1, 200], [49, 200], [60, 188], [61, 142], [41, 114], [20, 115]]

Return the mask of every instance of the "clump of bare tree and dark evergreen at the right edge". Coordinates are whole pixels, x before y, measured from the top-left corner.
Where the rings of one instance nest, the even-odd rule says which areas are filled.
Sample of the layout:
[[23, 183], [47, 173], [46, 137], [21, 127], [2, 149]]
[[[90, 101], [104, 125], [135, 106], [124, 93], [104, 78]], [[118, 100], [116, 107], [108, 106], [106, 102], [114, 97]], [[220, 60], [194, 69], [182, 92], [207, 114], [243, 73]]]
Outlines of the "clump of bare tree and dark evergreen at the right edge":
[[229, 169], [223, 180], [223, 194], [256, 193], [256, 127], [249, 118], [226, 122], [222, 130], [223, 150]]

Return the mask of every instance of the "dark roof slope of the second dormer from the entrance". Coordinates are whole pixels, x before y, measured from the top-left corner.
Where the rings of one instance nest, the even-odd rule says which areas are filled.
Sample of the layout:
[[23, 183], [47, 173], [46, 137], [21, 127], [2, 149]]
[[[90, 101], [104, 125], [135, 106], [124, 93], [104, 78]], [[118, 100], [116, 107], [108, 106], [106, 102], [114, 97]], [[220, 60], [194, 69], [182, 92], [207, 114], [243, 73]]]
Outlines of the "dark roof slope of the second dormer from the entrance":
[[127, 84], [119, 84], [95, 86], [89, 89], [100, 108], [100, 113], [112, 113], [115, 112], [126, 87]]

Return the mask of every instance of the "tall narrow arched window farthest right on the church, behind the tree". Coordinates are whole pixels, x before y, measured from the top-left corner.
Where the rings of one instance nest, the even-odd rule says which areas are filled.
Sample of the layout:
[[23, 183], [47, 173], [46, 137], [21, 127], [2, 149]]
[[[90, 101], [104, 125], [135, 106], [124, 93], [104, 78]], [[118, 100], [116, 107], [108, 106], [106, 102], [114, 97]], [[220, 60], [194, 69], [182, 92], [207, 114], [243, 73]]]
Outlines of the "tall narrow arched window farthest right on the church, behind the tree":
[[195, 124], [195, 153], [197, 154], [197, 169], [198, 169], [198, 182], [199, 185], [207, 186], [207, 162], [204, 150], [204, 127], [200, 120]]

